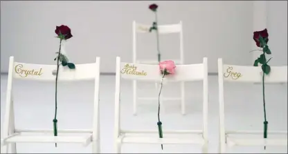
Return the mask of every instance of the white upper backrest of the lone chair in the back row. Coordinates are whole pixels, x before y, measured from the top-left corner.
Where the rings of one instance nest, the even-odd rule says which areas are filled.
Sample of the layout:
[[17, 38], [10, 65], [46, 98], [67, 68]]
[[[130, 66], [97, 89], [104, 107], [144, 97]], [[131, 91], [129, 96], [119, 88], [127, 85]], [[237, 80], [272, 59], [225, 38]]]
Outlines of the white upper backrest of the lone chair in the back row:
[[[150, 33], [151, 25], [143, 24], [143, 23], [136, 23], [133, 21], [133, 63], [136, 63], [136, 34], [137, 33]], [[182, 21], [177, 24], [169, 24], [169, 25], [159, 25], [158, 26], [159, 35], [171, 34], [171, 33], [179, 33], [179, 41], [180, 41], [180, 61], [179, 64], [184, 63], [183, 57], [183, 28], [182, 28]]]

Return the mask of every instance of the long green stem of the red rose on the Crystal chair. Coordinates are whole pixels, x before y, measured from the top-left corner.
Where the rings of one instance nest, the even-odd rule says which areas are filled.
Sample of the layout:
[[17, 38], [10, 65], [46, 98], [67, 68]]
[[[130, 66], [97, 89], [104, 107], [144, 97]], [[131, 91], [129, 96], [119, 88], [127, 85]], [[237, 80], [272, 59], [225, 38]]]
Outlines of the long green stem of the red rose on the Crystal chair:
[[[54, 131], [54, 136], [57, 136], [57, 81], [58, 81], [58, 73], [59, 73], [59, 61], [60, 61], [60, 55], [61, 55], [61, 43], [62, 43], [62, 38], [60, 38], [60, 46], [59, 46], [59, 52], [58, 52], [58, 57], [57, 57], [57, 72], [56, 72], [56, 81], [55, 81], [55, 116], [53, 119], [53, 131]], [[55, 143], [55, 147], [57, 147], [57, 143]]]

